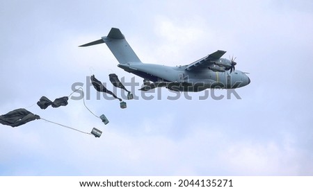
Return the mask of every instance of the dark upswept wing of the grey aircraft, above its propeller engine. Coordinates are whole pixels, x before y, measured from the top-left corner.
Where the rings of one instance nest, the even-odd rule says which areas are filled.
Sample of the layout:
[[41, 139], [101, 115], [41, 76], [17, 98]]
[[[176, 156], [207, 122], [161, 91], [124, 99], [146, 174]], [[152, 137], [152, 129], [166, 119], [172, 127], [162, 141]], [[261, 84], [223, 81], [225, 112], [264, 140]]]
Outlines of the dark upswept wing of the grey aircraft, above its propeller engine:
[[218, 50], [214, 53], [211, 53], [210, 55], [205, 56], [204, 58], [197, 60], [191, 64], [188, 64], [186, 67], [186, 70], [191, 71], [195, 69], [202, 69], [205, 67], [209, 67], [211, 64], [214, 64], [215, 60], [218, 60], [221, 58], [226, 51]]

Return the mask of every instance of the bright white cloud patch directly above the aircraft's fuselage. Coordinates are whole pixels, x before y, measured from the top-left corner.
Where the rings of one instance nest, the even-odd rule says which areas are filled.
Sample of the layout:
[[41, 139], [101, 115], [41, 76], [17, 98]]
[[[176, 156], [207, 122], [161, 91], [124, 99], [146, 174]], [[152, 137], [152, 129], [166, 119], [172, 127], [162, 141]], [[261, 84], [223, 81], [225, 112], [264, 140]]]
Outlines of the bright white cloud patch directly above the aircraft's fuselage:
[[192, 60], [185, 60], [182, 55], [193, 52], [192, 47], [202, 42], [204, 36], [205, 39], [212, 36], [208, 31], [204, 33], [204, 21], [197, 17], [182, 22], [157, 16], [154, 22], [154, 34], [159, 37], [154, 56], [170, 65], [191, 63]]

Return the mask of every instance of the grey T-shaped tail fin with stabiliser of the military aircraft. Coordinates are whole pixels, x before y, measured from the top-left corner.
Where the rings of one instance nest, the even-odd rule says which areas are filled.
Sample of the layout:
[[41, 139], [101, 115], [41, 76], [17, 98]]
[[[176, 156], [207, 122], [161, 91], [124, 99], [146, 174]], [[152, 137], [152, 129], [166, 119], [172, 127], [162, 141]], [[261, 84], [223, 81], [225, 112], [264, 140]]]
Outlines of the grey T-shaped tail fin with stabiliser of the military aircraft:
[[141, 63], [141, 60], [139, 60], [134, 50], [131, 49], [131, 46], [129, 46], [125, 36], [118, 28], [111, 28], [109, 35], [102, 37], [100, 40], [83, 44], [80, 47], [93, 46], [102, 43], [106, 43], [120, 64], [125, 64], [127, 62]]

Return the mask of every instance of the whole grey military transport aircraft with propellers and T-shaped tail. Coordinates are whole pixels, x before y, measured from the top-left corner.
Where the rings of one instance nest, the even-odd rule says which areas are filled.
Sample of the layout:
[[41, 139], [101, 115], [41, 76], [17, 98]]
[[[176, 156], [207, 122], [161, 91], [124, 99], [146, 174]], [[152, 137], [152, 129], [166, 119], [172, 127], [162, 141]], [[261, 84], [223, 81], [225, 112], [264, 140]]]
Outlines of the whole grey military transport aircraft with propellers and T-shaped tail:
[[120, 63], [118, 67], [144, 79], [144, 86], [141, 88], [144, 91], [155, 87], [167, 87], [175, 91], [199, 92], [208, 88], [234, 89], [250, 83], [246, 73], [235, 69], [236, 62], [233, 58], [231, 60], [221, 58], [226, 51], [218, 50], [184, 66], [147, 64], [139, 60], [118, 28], [111, 28], [109, 35], [81, 46], [102, 43], [106, 43]]

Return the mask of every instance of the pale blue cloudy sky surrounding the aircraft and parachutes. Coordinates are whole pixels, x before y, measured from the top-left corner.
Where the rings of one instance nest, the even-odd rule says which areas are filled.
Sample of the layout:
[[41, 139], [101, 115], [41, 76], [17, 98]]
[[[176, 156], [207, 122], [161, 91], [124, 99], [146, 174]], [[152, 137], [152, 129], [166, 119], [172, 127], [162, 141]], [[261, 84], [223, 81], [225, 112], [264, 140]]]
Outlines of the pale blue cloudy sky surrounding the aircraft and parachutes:
[[[38, 120], [0, 126], [0, 175], [313, 175], [313, 3], [290, 1], [0, 1], [0, 114], [25, 107], [90, 132]], [[91, 74], [130, 81], [105, 44], [79, 48], [120, 28], [143, 62], [189, 64], [221, 49], [250, 85], [216, 101], [176, 100], [167, 89], [127, 101], [97, 100]], [[142, 83], [142, 78], [136, 76]], [[83, 101], [40, 110], [41, 96]], [[108, 84], [112, 89], [112, 85]], [[120, 95], [118, 91], [118, 95]], [[207, 93], [211, 93], [207, 91]], [[215, 95], [227, 95], [218, 90]]]

